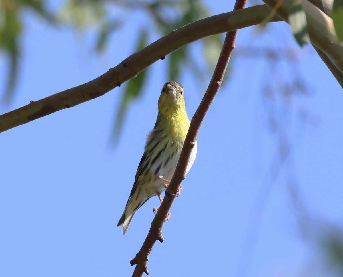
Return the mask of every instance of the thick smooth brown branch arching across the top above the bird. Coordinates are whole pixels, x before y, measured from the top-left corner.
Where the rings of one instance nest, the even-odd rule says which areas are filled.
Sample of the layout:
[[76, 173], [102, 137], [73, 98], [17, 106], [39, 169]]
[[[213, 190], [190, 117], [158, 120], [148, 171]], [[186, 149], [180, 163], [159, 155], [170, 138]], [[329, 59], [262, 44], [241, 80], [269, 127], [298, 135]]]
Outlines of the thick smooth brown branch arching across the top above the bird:
[[[259, 5], [214, 15], [181, 27], [123, 60], [96, 79], [56, 93], [0, 116], [0, 132], [25, 124], [50, 113], [79, 105], [120, 86], [152, 63], [200, 38], [259, 24], [270, 9]], [[272, 21], [280, 21], [275, 17]]]

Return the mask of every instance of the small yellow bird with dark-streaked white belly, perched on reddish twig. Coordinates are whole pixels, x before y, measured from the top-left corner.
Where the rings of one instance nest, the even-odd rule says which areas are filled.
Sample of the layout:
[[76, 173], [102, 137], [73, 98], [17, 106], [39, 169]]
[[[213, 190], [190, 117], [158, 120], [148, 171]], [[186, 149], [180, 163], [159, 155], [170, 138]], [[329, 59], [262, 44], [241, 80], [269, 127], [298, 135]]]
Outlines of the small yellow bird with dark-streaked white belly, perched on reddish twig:
[[[166, 190], [176, 169], [190, 121], [186, 112], [184, 87], [170, 81], [164, 84], [158, 99], [155, 126], [147, 136], [144, 154], [139, 163], [130, 197], [119, 219], [125, 235], [133, 215], [149, 198]], [[186, 174], [197, 155], [197, 141], [192, 149]], [[156, 211], [158, 208], [154, 208]]]

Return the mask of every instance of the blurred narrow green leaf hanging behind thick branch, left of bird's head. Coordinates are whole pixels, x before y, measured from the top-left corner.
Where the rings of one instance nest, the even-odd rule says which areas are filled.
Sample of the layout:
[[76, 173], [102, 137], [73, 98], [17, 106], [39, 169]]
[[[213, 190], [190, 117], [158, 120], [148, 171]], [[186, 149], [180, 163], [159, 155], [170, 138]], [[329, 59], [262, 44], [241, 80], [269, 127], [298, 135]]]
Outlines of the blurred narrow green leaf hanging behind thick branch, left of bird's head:
[[[141, 31], [140, 33], [140, 37], [138, 39], [135, 52], [143, 49], [146, 46], [146, 44], [147, 44], [147, 32], [144, 30], [144, 31]], [[119, 109], [116, 116], [116, 122], [114, 124], [114, 129], [112, 133], [112, 139], [113, 139], [112, 141], [114, 141], [115, 143], [118, 142], [119, 135], [122, 131], [123, 122], [124, 122], [126, 113], [130, 105], [132, 104], [134, 100], [138, 99], [142, 94], [143, 84], [144, 84], [144, 81], [146, 80], [146, 73], [147, 73], [147, 69], [139, 73], [135, 78], [128, 81], [126, 89], [123, 93], [122, 100], [119, 104]]]

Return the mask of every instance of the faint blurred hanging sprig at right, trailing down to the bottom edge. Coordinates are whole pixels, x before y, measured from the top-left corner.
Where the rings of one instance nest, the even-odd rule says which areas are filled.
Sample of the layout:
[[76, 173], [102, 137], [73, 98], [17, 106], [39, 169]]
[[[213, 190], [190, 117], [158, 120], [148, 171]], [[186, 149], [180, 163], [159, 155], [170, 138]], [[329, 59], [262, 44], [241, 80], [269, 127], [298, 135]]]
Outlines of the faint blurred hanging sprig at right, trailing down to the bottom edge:
[[[294, 151], [301, 143], [307, 125], [317, 125], [318, 117], [312, 115], [306, 107], [306, 101], [313, 93], [302, 77], [297, 64], [304, 55], [307, 55], [305, 52], [286, 48], [240, 47], [237, 49], [237, 54], [241, 59], [262, 58], [267, 61], [263, 64], [264, 74], [260, 86], [264, 116], [261, 118], [257, 115], [253, 126], [260, 125], [256, 121], [261, 119], [265, 122], [264, 125], [274, 140], [275, 149], [251, 207], [245, 240], [235, 271], [235, 276], [246, 276], [254, 256], [263, 212], [273, 186], [280, 176], [287, 183], [292, 172], [289, 167]], [[263, 129], [253, 130], [255, 142], [261, 141], [258, 137], [262, 136], [262, 132]], [[263, 147], [254, 145], [253, 148]], [[263, 156], [257, 157], [257, 165], [262, 160]]]

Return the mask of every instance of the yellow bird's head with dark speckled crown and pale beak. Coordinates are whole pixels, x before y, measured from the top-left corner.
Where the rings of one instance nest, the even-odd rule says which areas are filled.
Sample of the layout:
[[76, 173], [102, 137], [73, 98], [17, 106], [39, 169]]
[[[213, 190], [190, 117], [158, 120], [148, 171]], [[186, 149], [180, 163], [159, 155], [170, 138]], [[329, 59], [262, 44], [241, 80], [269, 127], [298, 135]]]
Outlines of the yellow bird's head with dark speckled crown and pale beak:
[[171, 81], [162, 88], [158, 99], [158, 110], [168, 113], [178, 109], [186, 109], [184, 87], [176, 81]]

